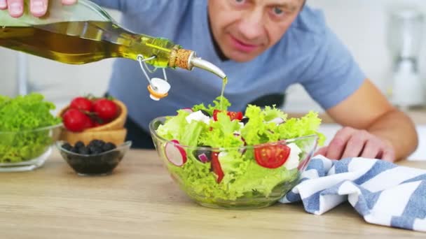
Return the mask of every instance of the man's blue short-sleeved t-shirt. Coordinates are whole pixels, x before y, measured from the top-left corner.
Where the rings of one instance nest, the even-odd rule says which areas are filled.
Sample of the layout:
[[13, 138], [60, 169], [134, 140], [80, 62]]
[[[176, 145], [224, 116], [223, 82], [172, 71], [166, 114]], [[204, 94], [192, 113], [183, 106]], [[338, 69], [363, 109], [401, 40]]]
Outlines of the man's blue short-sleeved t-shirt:
[[[268, 94], [280, 94], [299, 83], [324, 109], [336, 106], [354, 93], [366, 78], [350, 52], [327, 27], [319, 10], [305, 6], [282, 39], [252, 61], [221, 61], [214, 50], [207, 19], [207, 0], [94, 0], [121, 10], [121, 26], [149, 36], [165, 37], [228, 75], [225, 96], [230, 110], [242, 111], [247, 103]], [[167, 69], [172, 85], [160, 101], [149, 98], [148, 82], [137, 61], [117, 59], [109, 93], [128, 106], [129, 116], [148, 130], [151, 119], [174, 115], [179, 108], [210, 103], [220, 95], [217, 75], [195, 69]], [[151, 77], [163, 78], [162, 71]]]

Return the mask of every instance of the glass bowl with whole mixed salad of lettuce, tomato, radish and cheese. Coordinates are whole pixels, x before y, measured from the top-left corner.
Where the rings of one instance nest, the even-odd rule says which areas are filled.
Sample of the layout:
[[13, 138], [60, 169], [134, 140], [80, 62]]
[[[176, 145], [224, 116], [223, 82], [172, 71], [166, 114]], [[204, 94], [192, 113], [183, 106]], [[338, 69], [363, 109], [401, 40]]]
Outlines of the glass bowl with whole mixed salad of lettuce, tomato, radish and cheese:
[[287, 119], [272, 107], [227, 110], [218, 97], [149, 125], [160, 159], [179, 187], [209, 208], [263, 208], [294, 187], [318, 143], [316, 113]]

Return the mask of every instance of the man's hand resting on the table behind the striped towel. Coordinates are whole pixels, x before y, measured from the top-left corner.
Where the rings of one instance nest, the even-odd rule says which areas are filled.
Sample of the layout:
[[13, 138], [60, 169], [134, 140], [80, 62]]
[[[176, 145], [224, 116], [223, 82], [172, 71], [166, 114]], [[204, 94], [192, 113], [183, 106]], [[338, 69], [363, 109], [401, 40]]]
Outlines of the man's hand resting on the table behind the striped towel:
[[336, 133], [327, 147], [322, 147], [316, 154], [322, 154], [329, 159], [344, 159], [347, 157], [365, 157], [395, 161], [392, 145], [366, 130], [344, 127]]

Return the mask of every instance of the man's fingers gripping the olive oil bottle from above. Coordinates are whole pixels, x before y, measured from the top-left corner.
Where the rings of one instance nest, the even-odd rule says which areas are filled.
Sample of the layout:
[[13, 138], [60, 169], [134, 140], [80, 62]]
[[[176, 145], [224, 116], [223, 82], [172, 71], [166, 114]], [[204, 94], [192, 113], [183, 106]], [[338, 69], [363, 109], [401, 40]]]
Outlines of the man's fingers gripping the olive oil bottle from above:
[[[54, 0], [57, 1], [57, 0]], [[71, 5], [77, 0], [62, 0], [64, 5]], [[12, 17], [20, 17], [24, 13], [24, 0], [0, 0], [0, 9], [8, 8]], [[48, 0], [30, 0], [29, 10], [35, 17], [41, 17], [46, 14], [48, 9]]]

